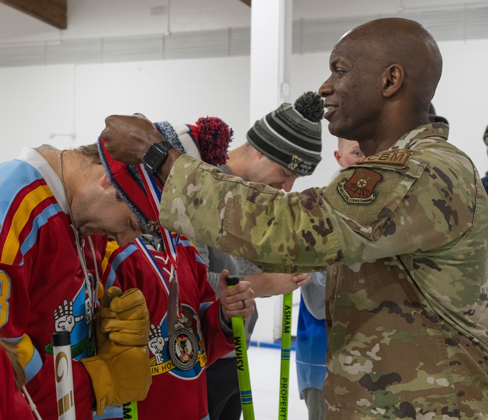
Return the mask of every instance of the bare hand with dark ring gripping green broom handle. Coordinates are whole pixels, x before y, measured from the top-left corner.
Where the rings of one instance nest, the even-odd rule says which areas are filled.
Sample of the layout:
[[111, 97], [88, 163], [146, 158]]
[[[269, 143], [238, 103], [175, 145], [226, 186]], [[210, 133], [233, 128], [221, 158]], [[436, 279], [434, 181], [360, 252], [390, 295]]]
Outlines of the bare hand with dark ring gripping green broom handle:
[[[240, 281], [231, 289], [227, 289], [226, 278], [229, 272], [224, 270], [220, 274], [220, 304], [225, 323], [229, 323], [231, 316], [243, 315], [249, 317], [254, 312], [254, 292], [248, 281]], [[244, 303], [245, 302], [245, 303]]]

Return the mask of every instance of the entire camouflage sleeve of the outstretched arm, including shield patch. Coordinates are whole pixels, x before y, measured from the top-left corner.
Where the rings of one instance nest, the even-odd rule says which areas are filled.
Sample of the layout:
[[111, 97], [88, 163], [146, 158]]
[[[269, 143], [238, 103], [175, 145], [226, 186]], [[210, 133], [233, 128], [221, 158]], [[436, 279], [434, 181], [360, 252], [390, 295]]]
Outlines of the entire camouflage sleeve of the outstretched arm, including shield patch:
[[168, 229], [263, 271], [321, 271], [459, 238], [473, 208], [472, 194], [459, 186], [472, 185], [472, 173], [454, 183], [458, 189], [443, 191], [439, 185], [454, 176], [448, 168], [430, 167], [419, 152], [394, 153], [403, 157], [391, 163], [382, 155], [347, 168], [326, 188], [288, 194], [182, 156], [164, 187], [160, 218]]

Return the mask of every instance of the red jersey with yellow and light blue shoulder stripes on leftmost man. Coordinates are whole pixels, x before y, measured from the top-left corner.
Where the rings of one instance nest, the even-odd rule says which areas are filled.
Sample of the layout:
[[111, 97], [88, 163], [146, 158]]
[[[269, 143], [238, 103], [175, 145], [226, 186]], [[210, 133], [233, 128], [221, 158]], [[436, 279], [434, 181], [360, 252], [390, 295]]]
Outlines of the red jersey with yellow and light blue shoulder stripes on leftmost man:
[[[70, 331], [75, 359], [94, 354], [93, 289], [107, 238], [93, 236], [95, 254], [85, 241], [87, 288], [61, 182], [35, 149], [0, 164], [0, 189], [0, 333], [17, 343], [26, 388], [42, 419], [57, 420], [51, 333]], [[89, 420], [95, 398], [76, 360], [73, 380], [77, 419]]]

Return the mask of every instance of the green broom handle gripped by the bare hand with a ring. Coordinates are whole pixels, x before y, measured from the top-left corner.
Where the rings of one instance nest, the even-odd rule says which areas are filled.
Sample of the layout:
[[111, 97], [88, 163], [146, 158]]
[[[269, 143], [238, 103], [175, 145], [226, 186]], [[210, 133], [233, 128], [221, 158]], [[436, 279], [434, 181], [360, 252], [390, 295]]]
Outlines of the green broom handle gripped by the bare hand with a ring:
[[[239, 283], [239, 277], [227, 277], [227, 288], [232, 289]], [[254, 406], [252, 403], [251, 378], [249, 377], [249, 363], [247, 362], [247, 347], [244, 334], [244, 320], [242, 315], [232, 316], [232, 331], [236, 348], [237, 376], [241, 390], [241, 403], [244, 420], [254, 420]]]

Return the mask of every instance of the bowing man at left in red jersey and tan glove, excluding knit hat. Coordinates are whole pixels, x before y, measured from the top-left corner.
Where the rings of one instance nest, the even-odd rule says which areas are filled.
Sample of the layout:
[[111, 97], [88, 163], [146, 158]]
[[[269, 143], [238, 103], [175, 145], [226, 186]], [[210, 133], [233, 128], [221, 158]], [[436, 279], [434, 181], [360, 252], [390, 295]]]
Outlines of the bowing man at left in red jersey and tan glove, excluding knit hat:
[[125, 245], [145, 231], [108, 180], [97, 145], [24, 148], [0, 164], [0, 187], [0, 333], [17, 346], [41, 418], [58, 419], [55, 331], [71, 333], [77, 419], [144, 399], [151, 375], [142, 293], [127, 290], [94, 317], [108, 236]]

